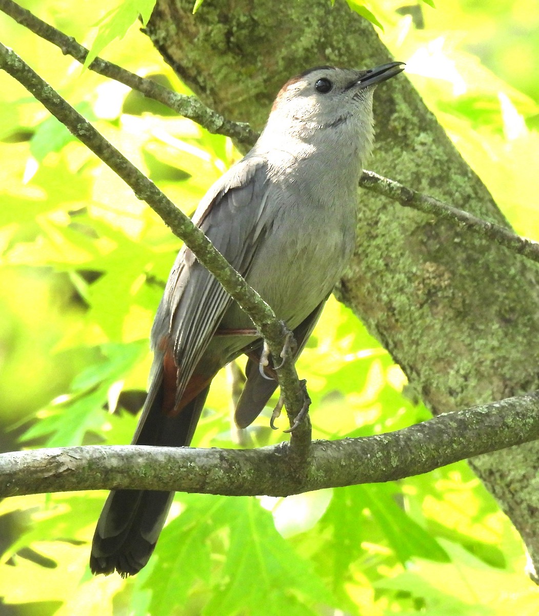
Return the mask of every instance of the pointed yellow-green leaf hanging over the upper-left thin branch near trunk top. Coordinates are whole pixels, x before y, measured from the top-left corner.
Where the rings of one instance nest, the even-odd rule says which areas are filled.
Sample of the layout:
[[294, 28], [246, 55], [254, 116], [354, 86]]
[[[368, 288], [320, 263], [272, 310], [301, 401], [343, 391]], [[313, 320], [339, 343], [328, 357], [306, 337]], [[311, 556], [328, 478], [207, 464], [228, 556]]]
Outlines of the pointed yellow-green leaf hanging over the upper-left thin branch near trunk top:
[[90, 47], [84, 67], [89, 67], [114, 39], [123, 38], [139, 16], [142, 18], [142, 23], [146, 25], [151, 17], [155, 2], [156, 0], [124, 0], [117, 7], [111, 9], [105, 17], [98, 20], [95, 25], [98, 26], [99, 30], [94, 44]]

